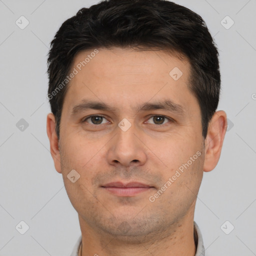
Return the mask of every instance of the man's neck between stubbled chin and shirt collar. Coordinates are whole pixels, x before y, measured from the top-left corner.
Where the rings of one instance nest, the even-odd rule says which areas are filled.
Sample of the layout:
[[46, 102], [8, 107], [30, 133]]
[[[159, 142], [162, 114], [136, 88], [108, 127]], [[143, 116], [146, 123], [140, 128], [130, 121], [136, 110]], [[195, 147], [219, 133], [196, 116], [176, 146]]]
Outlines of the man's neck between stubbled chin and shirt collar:
[[143, 237], [115, 237], [89, 226], [79, 215], [81, 256], [194, 256], [193, 214], [172, 223], [166, 231]]

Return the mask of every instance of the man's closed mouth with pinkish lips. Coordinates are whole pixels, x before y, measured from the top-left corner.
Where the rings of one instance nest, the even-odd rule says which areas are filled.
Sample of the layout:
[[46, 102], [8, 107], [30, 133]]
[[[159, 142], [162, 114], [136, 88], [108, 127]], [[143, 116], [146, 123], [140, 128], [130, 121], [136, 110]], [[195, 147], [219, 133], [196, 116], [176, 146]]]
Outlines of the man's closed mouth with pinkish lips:
[[136, 194], [148, 191], [154, 186], [143, 184], [140, 182], [110, 182], [101, 186], [105, 191], [117, 196], [135, 196]]

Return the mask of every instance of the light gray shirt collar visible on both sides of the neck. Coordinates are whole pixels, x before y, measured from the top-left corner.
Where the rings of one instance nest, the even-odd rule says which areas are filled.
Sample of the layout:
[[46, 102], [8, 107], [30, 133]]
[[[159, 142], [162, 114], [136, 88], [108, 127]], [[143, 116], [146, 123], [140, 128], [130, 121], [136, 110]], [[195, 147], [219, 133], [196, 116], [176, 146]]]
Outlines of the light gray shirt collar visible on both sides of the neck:
[[[80, 247], [80, 243], [82, 241], [82, 236], [80, 235], [79, 239], [74, 245], [73, 251], [70, 256], [78, 256], [78, 251]], [[202, 235], [198, 225], [194, 222], [194, 241], [196, 246], [196, 252], [194, 256], [204, 256], [204, 246], [202, 241]]]

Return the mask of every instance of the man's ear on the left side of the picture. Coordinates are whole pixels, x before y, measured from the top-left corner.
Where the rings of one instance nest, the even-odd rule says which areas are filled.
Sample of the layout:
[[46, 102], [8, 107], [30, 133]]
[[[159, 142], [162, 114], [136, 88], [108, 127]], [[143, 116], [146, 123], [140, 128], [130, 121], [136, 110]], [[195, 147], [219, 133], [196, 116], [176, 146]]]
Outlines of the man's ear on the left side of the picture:
[[55, 169], [57, 172], [61, 173], [58, 138], [55, 132], [55, 117], [52, 113], [48, 113], [47, 115], [46, 130], [50, 142], [50, 154], [54, 161]]

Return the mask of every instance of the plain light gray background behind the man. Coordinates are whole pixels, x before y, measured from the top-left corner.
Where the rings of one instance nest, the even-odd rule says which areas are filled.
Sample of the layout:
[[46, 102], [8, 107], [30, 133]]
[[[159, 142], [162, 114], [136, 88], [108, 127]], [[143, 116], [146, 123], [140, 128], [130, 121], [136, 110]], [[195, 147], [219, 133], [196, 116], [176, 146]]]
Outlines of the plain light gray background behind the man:
[[[195, 208], [205, 254], [256, 255], [256, 0], [175, 2], [200, 14], [214, 36], [218, 109], [229, 119], [220, 160], [204, 172]], [[61, 23], [94, 3], [0, 0], [0, 255], [70, 255], [80, 235], [49, 153], [46, 55]], [[24, 29], [15, 23], [22, 15]], [[29, 226], [24, 234], [20, 221]]]

